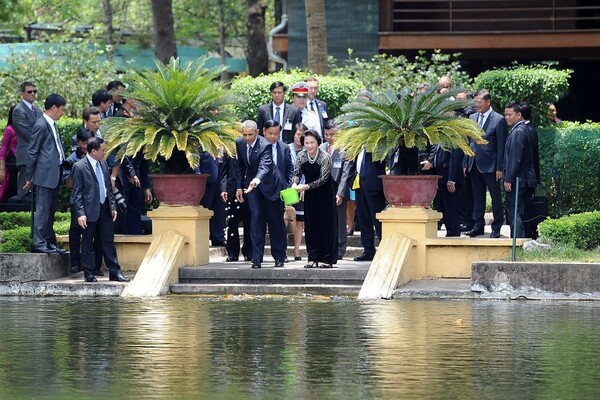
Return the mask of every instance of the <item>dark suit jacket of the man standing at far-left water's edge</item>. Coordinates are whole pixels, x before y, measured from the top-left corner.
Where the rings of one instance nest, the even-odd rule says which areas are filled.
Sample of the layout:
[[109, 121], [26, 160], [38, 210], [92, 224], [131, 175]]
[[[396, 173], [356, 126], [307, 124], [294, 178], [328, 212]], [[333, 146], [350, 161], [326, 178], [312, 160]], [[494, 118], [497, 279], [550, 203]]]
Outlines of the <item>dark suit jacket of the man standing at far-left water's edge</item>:
[[[108, 205], [111, 212], [115, 211], [115, 196], [111, 191], [110, 175], [106, 161], [100, 161], [102, 174], [104, 175], [104, 187]], [[73, 192], [71, 193], [71, 204], [75, 207], [77, 217], [86, 216], [88, 221], [96, 222], [100, 218], [100, 188], [96, 173], [87, 157], [82, 158], [73, 165]]]

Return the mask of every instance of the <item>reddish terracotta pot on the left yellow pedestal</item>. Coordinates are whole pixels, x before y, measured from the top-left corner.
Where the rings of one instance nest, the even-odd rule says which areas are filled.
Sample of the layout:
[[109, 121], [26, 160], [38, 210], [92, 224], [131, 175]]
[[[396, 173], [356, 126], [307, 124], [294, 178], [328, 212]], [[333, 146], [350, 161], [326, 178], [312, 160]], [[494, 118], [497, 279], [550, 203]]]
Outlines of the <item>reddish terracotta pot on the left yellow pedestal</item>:
[[209, 174], [151, 175], [154, 194], [161, 204], [198, 206]]

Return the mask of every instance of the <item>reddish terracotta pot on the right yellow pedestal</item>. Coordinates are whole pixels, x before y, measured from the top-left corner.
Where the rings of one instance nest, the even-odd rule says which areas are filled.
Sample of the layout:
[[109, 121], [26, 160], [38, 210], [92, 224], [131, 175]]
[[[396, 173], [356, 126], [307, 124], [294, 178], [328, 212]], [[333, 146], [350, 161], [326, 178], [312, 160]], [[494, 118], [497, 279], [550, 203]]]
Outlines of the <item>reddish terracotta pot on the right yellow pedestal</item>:
[[394, 207], [428, 208], [437, 192], [439, 175], [380, 175], [383, 193]]

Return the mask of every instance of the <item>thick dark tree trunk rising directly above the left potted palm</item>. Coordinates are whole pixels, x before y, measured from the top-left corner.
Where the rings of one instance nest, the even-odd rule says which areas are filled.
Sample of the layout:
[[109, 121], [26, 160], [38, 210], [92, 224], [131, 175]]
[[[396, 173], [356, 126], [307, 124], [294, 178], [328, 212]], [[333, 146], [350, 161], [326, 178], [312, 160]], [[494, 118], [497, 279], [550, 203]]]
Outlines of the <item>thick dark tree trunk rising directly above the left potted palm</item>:
[[156, 58], [167, 64], [171, 57], [177, 57], [172, 0], [152, 0], [152, 21]]

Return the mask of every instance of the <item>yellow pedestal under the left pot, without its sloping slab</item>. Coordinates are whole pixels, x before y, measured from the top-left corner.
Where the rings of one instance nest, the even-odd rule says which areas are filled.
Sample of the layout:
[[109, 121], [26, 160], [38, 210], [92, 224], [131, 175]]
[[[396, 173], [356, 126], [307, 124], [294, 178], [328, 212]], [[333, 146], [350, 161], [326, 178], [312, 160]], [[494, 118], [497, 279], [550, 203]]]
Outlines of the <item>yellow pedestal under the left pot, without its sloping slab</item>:
[[152, 219], [152, 236], [175, 230], [186, 237], [177, 267], [208, 264], [209, 220], [213, 212], [202, 206], [161, 205], [149, 211]]

